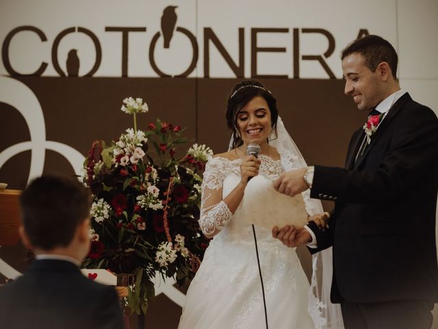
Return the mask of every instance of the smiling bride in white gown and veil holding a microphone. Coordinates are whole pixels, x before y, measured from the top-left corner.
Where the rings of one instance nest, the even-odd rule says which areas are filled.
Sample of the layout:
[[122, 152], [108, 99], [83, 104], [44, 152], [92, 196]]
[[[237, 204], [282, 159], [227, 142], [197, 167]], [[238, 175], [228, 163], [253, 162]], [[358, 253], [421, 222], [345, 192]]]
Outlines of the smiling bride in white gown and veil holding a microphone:
[[[295, 249], [256, 226], [266, 320], [253, 227], [244, 220], [242, 199], [250, 178], [273, 180], [305, 166], [279, 118], [276, 99], [259, 82], [241, 82], [228, 99], [227, 123], [233, 131], [230, 150], [209, 159], [202, 186], [199, 225], [214, 239], [190, 284], [178, 328], [266, 328], [266, 321], [275, 329], [323, 328], [322, 305], [309, 294]], [[258, 158], [246, 154], [250, 143], [260, 145]], [[322, 212], [319, 202], [305, 201], [310, 215]]]

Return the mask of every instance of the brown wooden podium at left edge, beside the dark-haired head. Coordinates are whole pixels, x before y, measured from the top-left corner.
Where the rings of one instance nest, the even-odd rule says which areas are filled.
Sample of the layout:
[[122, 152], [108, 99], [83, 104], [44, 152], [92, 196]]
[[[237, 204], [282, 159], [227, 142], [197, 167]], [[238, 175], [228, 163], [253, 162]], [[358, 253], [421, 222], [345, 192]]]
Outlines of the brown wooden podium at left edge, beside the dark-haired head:
[[19, 190], [0, 190], [0, 245], [16, 245], [21, 223]]

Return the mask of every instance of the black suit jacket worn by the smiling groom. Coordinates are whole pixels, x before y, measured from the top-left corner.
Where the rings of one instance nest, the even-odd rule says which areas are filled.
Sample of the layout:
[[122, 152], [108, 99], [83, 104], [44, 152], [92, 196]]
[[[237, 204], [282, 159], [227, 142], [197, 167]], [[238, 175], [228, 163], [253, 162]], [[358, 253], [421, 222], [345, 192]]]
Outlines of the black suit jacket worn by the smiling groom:
[[436, 302], [438, 119], [406, 93], [355, 161], [364, 136], [353, 134], [346, 169], [315, 166], [311, 197], [335, 209], [329, 230], [309, 225], [309, 249], [333, 245], [333, 302]]

